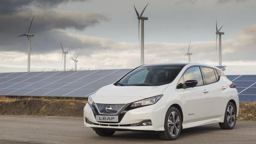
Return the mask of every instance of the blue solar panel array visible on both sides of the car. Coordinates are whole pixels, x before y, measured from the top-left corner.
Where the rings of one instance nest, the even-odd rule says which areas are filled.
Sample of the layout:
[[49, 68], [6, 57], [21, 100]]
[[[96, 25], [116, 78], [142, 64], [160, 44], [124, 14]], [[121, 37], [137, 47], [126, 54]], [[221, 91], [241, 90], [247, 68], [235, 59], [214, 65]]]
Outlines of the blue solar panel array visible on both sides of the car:
[[[0, 95], [88, 97], [132, 69], [0, 73]], [[227, 75], [239, 100], [256, 101], [256, 75]]]

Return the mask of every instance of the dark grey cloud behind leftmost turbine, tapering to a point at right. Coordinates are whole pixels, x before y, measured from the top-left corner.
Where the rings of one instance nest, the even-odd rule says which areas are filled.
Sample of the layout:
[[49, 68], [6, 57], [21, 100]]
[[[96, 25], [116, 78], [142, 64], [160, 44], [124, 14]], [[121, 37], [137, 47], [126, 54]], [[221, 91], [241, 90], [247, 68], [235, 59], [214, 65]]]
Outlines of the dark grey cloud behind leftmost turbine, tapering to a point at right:
[[[75, 39], [69, 36], [62, 36], [65, 29], [84, 30], [89, 26], [95, 26], [102, 21], [109, 20], [102, 14], [94, 12], [84, 12], [84, 14], [72, 11], [64, 11], [48, 8], [28, 8], [19, 13], [10, 15], [0, 14], [0, 51], [23, 52], [28, 46], [27, 38], [18, 35], [28, 31], [31, 18], [35, 14], [31, 25], [30, 33], [34, 34], [31, 38], [31, 47], [35, 54], [55, 51], [59, 47], [59, 41], [73, 43], [71, 48], [77, 47]], [[71, 42], [72, 40], [72, 42]], [[78, 42], [76, 44], [75, 42]], [[65, 42], [63, 42], [65, 43]], [[88, 44], [90, 46], [90, 44]]]

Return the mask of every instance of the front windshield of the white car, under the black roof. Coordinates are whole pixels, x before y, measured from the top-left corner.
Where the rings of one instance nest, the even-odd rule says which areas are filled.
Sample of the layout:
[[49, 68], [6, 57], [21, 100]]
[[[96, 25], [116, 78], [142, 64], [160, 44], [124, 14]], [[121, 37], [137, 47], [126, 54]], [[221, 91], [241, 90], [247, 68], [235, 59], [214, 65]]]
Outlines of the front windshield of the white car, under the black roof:
[[171, 83], [179, 74], [182, 66], [148, 66], [138, 67], [128, 73], [117, 86], [159, 86]]

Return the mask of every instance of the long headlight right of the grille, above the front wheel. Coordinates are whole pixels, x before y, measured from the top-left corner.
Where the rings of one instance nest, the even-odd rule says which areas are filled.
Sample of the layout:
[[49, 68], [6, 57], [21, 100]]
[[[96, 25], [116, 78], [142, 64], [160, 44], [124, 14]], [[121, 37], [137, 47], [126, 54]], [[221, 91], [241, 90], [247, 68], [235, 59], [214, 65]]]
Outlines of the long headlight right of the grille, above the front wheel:
[[162, 96], [163, 95], [157, 95], [155, 97], [151, 97], [151, 98], [147, 98], [147, 99], [143, 99], [143, 100], [134, 102], [131, 104], [131, 108], [155, 104]]

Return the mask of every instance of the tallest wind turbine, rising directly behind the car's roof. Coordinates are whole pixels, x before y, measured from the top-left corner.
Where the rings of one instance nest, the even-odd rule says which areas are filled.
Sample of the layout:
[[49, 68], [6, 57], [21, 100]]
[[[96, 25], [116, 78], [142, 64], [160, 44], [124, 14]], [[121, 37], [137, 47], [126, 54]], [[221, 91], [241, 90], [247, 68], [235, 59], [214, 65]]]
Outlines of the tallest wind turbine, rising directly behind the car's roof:
[[[148, 4], [146, 5], [146, 7], [148, 6]], [[137, 14], [137, 19], [139, 20], [139, 43], [140, 43], [140, 20], [141, 20], [141, 57], [140, 57], [140, 64], [141, 65], [144, 65], [144, 20], [148, 20], [148, 17], [142, 17], [142, 14], [143, 14], [145, 8], [143, 9], [141, 14], [139, 15], [139, 13], [136, 10], [135, 5], [134, 5], [134, 9], [135, 9], [135, 12]]]

